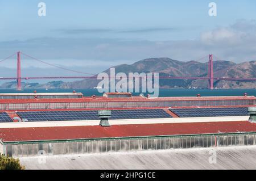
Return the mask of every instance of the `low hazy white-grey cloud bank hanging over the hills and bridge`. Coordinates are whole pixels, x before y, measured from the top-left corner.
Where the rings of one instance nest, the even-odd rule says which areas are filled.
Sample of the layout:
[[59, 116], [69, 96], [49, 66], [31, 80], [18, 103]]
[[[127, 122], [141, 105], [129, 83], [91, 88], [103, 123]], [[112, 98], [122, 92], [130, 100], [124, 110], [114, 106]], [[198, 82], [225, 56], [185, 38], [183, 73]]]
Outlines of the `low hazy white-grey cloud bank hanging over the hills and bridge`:
[[[98, 66], [107, 68], [151, 57], [170, 57], [189, 61], [197, 60], [207, 54], [214, 54], [222, 60], [242, 62], [256, 60], [255, 42], [256, 21], [238, 20], [228, 27], [201, 32], [200, 37], [191, 40], [42, 37], [27, 41], [0, 42], [0, 55], [1, 58], [5, 58], [22, 47], [22, 52], [26, 54], [43, 61], [52, 60], [53, 64], [68, 68], [77, 66], [90, 68], [93, 65], [94, 68]], [[201, 61], [207, 61], [207, 58]], [[42, 67], [39, 64], [34, 66]]]

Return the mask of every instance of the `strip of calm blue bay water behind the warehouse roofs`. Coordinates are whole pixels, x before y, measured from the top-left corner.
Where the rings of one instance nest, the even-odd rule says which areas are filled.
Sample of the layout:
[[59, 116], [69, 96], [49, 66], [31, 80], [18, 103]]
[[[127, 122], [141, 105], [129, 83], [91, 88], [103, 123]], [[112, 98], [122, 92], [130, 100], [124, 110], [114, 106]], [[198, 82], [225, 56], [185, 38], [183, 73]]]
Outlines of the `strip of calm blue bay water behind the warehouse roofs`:
[[[72, 89], [37, 89], [37, 92], [72, 92]], [[1, 93], [14, 93], [14, 92], [34, 92], [34, 89], [25, 89], [23, 91], [16, 91], [14, 89], [0, 89]], [[85, 96], [102, 95], [97, 89], [76, 89], [76, 92], [82, 92]], [[216, 90], [203, 90], [203, 89], [160, 89], [159, 96], [228, 96], [228, 95], [248, 95], [256, 96], [256, 89], [216, 89]], [[139, 95], [138, 93], [133, 95]], [[145, 94], [146, 95], [146, 94]]]

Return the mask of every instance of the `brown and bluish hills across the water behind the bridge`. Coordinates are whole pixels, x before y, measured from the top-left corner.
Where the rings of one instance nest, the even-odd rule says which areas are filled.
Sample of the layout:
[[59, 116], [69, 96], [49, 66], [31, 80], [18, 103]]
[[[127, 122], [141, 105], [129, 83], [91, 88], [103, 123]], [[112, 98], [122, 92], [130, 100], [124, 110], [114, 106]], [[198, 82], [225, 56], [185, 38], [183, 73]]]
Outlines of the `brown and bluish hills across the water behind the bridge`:
[[[180, 76], [180, 77], [207, 77], [208, 62], [201, 63], [197, 61], [177, 61], [170, 58], [148, 58], [135, 62], [134, 64], [114, 66], [115, 73], [123, 72], [128, 75], [129, 72], [158, 72], [159, 76]], [[243, 62], [235, 64], [231, 61], [214, 61], [214, 77], [229, 78], [255, 78], [256, 61]], [[110, 75], [110, 69], [104, 72]], [[97, 87], [96, 78], [84, 79], [75, 82], [53, 81], [47, 84], [23, 83], [24, 88], [45, 88], [48, 89], [92, 89]], [[166, 89], [207, 89], [208, 82], [205, 80], [181, 80], [181, 79], [159, 79], [160, 88]], [[16, 82], [3, 83], [1, 88], [15, 88]], [[219, 89], [256, 89], [256, 82], [236, 82], [236, 81], [215, 81], [214, 87]]]

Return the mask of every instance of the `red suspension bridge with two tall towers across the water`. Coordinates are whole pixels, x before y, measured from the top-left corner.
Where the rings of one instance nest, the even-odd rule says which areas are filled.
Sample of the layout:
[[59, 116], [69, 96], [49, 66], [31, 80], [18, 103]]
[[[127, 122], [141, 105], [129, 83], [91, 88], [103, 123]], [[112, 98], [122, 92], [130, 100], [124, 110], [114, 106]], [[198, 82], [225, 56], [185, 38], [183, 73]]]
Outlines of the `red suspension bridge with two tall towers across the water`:
[[[68, 68], [63, 68], [61, 66], [49, 64], [48, 62], [39, 60], [38, 58], [29, 56], [28, 54], [22, 53], [22, 52], [16, 52], [12, 54], [11, 56], [3, 59], [0, 61], [6, 61], [9, 58], [13, 57], [16, 54], [17, 56], [17, 69], [16, 69], [16, 77], [0, 77], [1, 80], [16, 80], [17, 81], [17, 90], [22, 90], [22, 79], [29, 80], [29, 79], [88, 79], [88, 78], [97, 78], [97, 74], [91, 74], [91, 73], [84, 73], [81, 71], [76, 71]], [[87, 76], [59, 76], [59, 77], [22, 77], [21, 75], [21, 54], [29, 57], [35, 61], [42, 62], [43, 64], [47, 64], [49, 66], [53, 66], [55, 68], [72, 71], [74, 73], [80, 73], [80, 74], [86, 74]], [[213, 75], [213, 54], [209, 54], [209, 61], [208, 61], [208, 76], [207, 77], [172, 77], [172, 76], [159, 76], [159, 79], [204, 79], [209, 82], [209, 89], [214, 89], [213, 82], [214, 80], [225, 80], [225, 81], [256, 81], [256, 78], [221, 78], [221, 77], [214, 77]]]

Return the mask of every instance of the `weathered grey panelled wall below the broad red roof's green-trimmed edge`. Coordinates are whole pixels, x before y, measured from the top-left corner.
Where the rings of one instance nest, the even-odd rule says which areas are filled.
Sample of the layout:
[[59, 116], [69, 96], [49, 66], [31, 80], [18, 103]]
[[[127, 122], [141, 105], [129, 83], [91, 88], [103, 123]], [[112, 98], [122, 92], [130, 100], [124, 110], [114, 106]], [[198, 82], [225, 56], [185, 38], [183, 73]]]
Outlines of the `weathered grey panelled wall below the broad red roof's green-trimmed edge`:
[[212, 148], [217, 146], [256, 145], [254, 134], [234, 136], [155, 137], [127, 140], [96, 140], [7, 144], [7, 154], [14, 157], [38, 155], [88, 154], [117, 151]]

